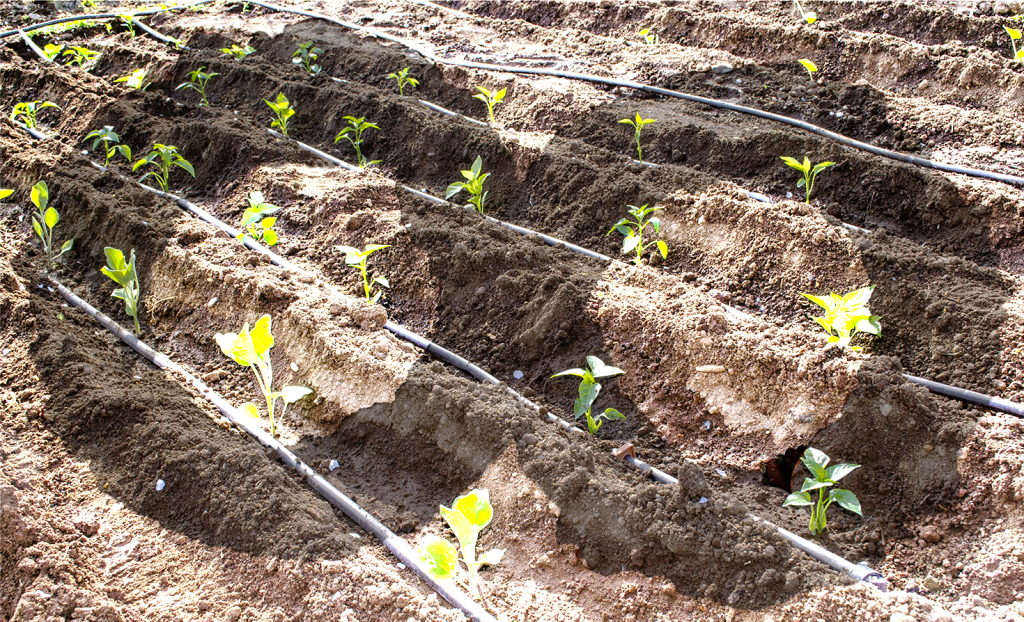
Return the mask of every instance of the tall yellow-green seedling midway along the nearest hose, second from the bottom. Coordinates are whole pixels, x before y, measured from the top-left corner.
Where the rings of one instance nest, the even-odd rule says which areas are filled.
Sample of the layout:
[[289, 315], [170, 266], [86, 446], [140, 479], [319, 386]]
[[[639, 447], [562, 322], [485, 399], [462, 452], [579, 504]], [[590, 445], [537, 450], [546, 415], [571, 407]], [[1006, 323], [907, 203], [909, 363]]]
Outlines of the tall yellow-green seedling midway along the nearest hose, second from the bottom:
[[[273, 335], [270, 333], [270, 316], [263, 316], [257, 320], [252, 331], [249, 330], [249, 323], [246, 322], [242, 325], [241, 333], [217, 333], [213, 338], [225, 357], [253, 370], [256, 383], [259, 384], [260, 390], [263, 391], [263, 398], [266, 400], [266, 410], [270, 417], [270, 433], [276, 434], [278, 425], [273, 412], [278, 400], [281, 399], [285, 402], [281, 412], [281, 420], [283, 421], [289, 404], [294, 404], [313, 391], [305, 386], [286, 386], [280, 391], [273, 390], [273, 364], [270, 361]], [[259, 418], [259, 410], [251, 402], [242, 405], [241, 410], [257, 419]]]

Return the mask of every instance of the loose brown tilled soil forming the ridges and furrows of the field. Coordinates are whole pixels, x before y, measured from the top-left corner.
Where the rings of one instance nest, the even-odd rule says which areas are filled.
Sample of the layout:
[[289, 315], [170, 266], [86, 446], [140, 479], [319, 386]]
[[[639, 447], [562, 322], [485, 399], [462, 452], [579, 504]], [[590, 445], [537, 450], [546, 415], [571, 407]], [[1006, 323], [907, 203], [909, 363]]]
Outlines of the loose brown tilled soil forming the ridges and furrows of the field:
[[[8, 3], [3, 28], [77, 4]], [[813, 26], [788, 2], [286, 4], [441, 56], [625, 76], [1024, 174], [1024, 66], [1001, 28], [1017, 23], [989, 2], [808, 3]], [[101, 24], [34, 34], [101, 52], [82, 69], [44, 65], [16, 37], [0, 47], [5, 119], [18, 101], [60, 107], [40, 115], [47, 140], [0, 125], [0, 185], [15, 190], [0, 206], [0, 619], [464, 619], [181, 378], [63, 303], [32, 239], [40, 179], [58, 241], [75, 239], [53, 276], [129, 325], [98, 268], [104, 246], [135, 249], [143, 339], [232, 404], [258, 389], [213, 334], [270, 314], [276, 382], [315, 390], [282, 440], [411, 543], [446, 534], [439, 503], [487, 488], [496, 513], [481, 545], [506, 554], [483, 580], [510, 620], [1024, 619], [1022, 422], [901, 375], [1024, 400], [1019, 189], [701, 105], [433, 65], [251, 5], [148, 24], [193, 49]], [[660, 43], [627, 46], [642, 28]], [[324, 50], [319, 76], [291, 64], [305, 41]], [[231, 43], [256, 52], [232, 60], [218, 51]], [[143, 67], [146, 90], [114, 83]], [[210, 107], [174, 89], [199, 67], [219, 74]], [[386, 76], [403, 67], [421, 84], [398, 96]], [[494, 125], [418, 100], [485, 119], [480, 84], [508, 90]], [[268, 134], [262, 100], [279, 92], [295, 105], [291, 136], [348, 161], [334, 142], [343, 117], [377, 123], [364, 150], [381, 164], [346, 171]], [[633, 160], [617, 123], [637, 112], [656, 119], [643, 133], [655, 167]], [[171, 190], [227, 222], [262, 192], [283, 207], [278, 252], [304, 272], [140, 189], [119, 157], [95, 168], [82, 137], [104, 125], [136, 158], [177, 146], [197, 174], [177, 170]], [[779, 160], [805, 154], [837, 163], [810, 206]], [[668, 259], [589, 259], [401, 188], [442, 195], [477, 156], [488, 215], [615, 255], [611, 223], [654, 204]], [[372, 260], [392, 285], [375, 306], [333, 250], [370, 243], [390, 245]], [[866, 285], [882, 335], [860, 338], [861, 353], [827, 347], [799, 293]], [[564, 432], [398, 340], [387, 320], [562, 416], [575, 383], [550, 376], [599, 356], [626, 374], [597, 406], [626, 420], [596, 438]], [[612, 458], [627, 442], [680, 484]], [[763, 483], [766, 464], [802, 445], [862, 465], [844, 484], [863, 517], [834, 508], [818, 541], [877, 569], [889, 593], [751, 517], [808, 535], [807, 512]]]

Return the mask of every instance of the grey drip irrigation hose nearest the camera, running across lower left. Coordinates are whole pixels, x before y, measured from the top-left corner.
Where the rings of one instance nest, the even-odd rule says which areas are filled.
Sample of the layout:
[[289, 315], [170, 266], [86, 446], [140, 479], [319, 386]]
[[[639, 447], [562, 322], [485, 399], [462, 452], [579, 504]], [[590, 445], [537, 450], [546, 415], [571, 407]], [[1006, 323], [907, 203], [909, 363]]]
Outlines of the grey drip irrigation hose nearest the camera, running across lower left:
[[303, 480], [305, 480], [306, 484], [309, 485], [309, 488], [313, 489], [332, 505], [344, 512], [346, 516], [351, 519], [360, 528], [366, 530], [368, 533], [373, 534], [375, 538], [380, 540], [381, 544], [391, 551], [391, 554], [397, 557], [398, 561], [404, 564], [408, 568], [413, 569], [413, 571], [419, 575], [421, 579], [426, 581], [430, 587], [432, 587], [445, 600], [452, 604], [452, 606], [462, 610], [462, 612], [469, 616], [471, 620], [475, 620], [477, 622], [497, 622], [494, 616], [487, 613], [487, 611], [480, 607], [480, 605], [456, 587], [454, 583], [450, 581], [438, 581], [431, 577], [426, 565], [424, 565], [420, 559], [419, 553], [417, 553], [416, 549], [410, 546], [403, 538], [400, 538], [394, 532], [385, 527], [383, 523], [375, 519], [367, 510], [362, 509], [355, 501], [352, 501], [344, 493], [335, 488], [330, 482], [325, 480], [324, 476], [317, 473], [312, 467], [300, 460], [298, 456], [292, 453], [281, 442], [261, 428], [256, 423], [256, 419], [240, 413], [238, 409], [231, 406], [226, 400], [221, 398], [216, 391], [211, 389], [206, 385], [206, 383], [190, 374], [180, 365], [171, 361], [171, 359], [167, 356], [158, 353], [146, 345], [140, 339], [126, 331], [117, 322], [101, 314], [88, 302], [75, 295], [74, 292], [58, 283], [53, 277], [50, 277], [49, 279], [50, 282], [56, 287], [60, 295], [63, 296], [65, 300], [67, 300], [70, 304], [78, 307], [92, 319], [96, 320], [103, 326], [103, 328], [120, 337], [122, 341], [130, 345], [135, 351], [160, 369], [177, 372], [184, 376], [185, 380], [187, 380], [201, 396], [217, 407], [221, 416], [232, 424], [238, 425], [264, 446], [276, 451], [281, 460], [291, 468], [294, 468], [295, 471], [299, 473]]

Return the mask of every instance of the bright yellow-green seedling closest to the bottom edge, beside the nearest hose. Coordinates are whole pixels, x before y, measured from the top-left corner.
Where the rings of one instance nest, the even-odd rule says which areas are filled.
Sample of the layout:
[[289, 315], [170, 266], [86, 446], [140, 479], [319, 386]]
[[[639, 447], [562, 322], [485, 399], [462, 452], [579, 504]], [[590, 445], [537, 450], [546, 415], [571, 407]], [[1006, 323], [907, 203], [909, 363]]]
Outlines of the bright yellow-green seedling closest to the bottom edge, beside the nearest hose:
[[[470, 592], [475, 592], [484, 607], [489, 606], [480, 585], [480, 567], [495, 566], [505, 555], [504, 549], [492, 548], [479, 558], [476, 557], [476, 540], [483, 528], [490, 524], [493, 516], [494, 508], [486, 489], [474, 489], [456, 497], [452, 507], [441, 505], [441, 517], [455, 532], [462, 556], [459, 556], [454, 544], [437, 536], [428, 536], [417, 549], [432, 577], [462, 584]], [[465, 570], [459, 566], [460, 562], [465, 565]]]

